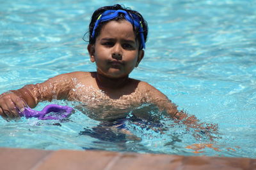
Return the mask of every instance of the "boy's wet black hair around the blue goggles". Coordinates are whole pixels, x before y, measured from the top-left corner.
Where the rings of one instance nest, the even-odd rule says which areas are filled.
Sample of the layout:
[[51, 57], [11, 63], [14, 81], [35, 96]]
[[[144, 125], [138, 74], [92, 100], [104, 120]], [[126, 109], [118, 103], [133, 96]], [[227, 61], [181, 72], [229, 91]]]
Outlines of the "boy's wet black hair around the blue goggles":
[[[115, 21], [125, 20], [124, 14], [120, 13], [120, 15], [118, 15], [118, 17], [116, 17], [116, 18], [113, 18], [111, 20], [107, 20], [104, 22], [100, 22], [99, 25], [97, 26], [97, 28], [95, 29], [95, 36], [92, 36], [93, 28], [94, 28], [95, 22], [97, 21], [97, 18], [99, 18], [99, 16], [106, 10], [124, 10], [124, 11], [127, 11], [127, 13], [129, 13], [130, 15], [133, 14], [133, 15], [138, 16], [140, 18], [141, 24], [143, 25], [143, 36], [144, 36], [145, 42], [147, 41], [148, 25], [147, 25], [147, 22], [142, 17], [142, 15], [140, 13], [138, 13], [138, 11], [131, 10], [130, 8], [125, 8], [125, 7], [121, 6], [120, 4], [115, 4], [113, 6], [103, 6], [93, 12], [91, 22], [89, 24], [89, 32], [88, 32], [90, 44], [95, 44], [96, 38], [97, 38], [97, 36], [99, 36], [100, 30], [103, 25], [107, 24], [111, 20], [115, 20]], [[132, 27], [133, 27], [134, 33], [136, 35], [136, 39], [138, 39], [140, 42], [139, 28], [134, 27], [134, 25], [132, 25]]]

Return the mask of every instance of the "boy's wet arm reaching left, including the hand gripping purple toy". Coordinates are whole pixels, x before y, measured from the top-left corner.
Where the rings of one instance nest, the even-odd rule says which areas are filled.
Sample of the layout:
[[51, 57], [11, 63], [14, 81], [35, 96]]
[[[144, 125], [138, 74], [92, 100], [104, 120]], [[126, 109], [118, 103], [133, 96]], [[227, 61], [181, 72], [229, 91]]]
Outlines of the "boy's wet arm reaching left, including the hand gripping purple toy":
[[18, 90], [10, 90], [0, 96], [0, 115], [6, 120], [19, 117], [19, 111], [24, 111], [40, 101], [52, 99], [67, 99], [68, 92], [74, 87], [74, 73], [60, 74], [43, 83], [26, 85]]

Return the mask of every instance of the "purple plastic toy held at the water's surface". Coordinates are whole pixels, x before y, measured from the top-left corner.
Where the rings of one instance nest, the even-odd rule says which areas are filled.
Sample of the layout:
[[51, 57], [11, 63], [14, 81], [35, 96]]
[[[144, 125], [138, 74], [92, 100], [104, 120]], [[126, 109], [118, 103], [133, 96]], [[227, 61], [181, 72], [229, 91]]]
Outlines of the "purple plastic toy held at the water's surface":
[[[69, 106], [60, 106], [58, 104], [49, 104], [45, 106], [42, 111], [36, 111], [26, 107], [24, 111], [20, 112], [20, 117], [36, 117], [40, 120], [60, 120], [71, 115], [72, 110], [73, 108]], [[47, 114], [51, 112], [55, 112], [56, 114], [47, 116]]]

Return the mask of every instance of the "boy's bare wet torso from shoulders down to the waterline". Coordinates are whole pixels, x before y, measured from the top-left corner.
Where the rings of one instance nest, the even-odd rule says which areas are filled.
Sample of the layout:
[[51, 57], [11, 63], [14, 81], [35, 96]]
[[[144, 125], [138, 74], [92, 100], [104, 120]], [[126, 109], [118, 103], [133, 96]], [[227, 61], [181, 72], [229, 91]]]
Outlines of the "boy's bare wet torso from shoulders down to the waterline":
[[[74, 87], [68, 93], [70, 101], [82, 103], [82, 109], [95, 120], [113, 120], [126, 117], [130, 111], [147, 101], [147, 94], [141, 92], [139, 80], [130, 79], [125, 90], [122, 88], [104, 90], [97, 85], [94, 73], [79, 72], [72, 79]], [[128, 89], [128, 90], [127, 90]]]

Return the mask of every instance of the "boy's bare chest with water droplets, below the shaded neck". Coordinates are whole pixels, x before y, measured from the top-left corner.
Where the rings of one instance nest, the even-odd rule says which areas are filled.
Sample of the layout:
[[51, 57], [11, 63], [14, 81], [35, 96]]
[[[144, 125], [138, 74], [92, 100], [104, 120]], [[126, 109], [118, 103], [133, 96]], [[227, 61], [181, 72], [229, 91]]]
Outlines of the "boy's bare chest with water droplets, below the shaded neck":
[[145, 99], [137, 89], [113, 99], [102, 90], [93, 87], [79, 86], [69, 93], [69, 100], [79, 101], [86, 108], [86, 115], [95, 120], [124, 118], [134, 108], [140, 106]]

